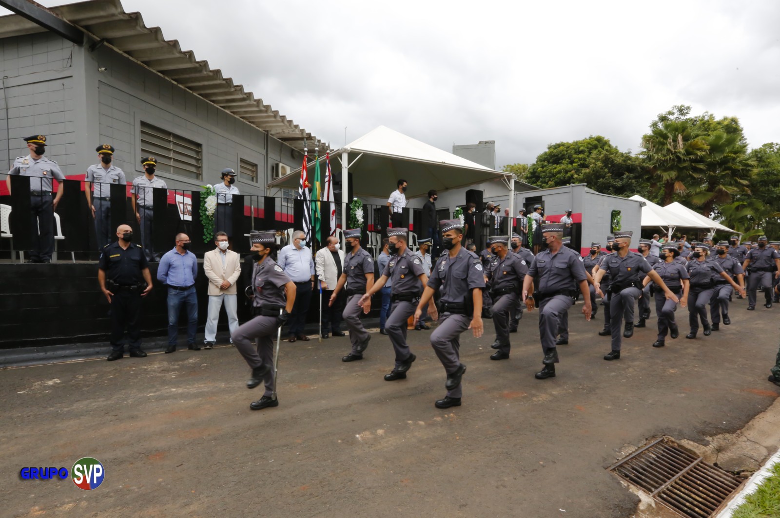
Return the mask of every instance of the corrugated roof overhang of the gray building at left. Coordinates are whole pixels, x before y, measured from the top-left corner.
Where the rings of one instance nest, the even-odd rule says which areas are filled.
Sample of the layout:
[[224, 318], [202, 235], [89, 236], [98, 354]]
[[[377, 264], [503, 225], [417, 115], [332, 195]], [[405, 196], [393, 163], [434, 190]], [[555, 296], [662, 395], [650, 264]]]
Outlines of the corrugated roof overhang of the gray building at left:
[[[140, 12], [125, 12], [119, 0], [90, 0], [49, 9], [55, 15], [87, 33], [87, 44], [105, 40], [105, 44], [134, 61], [158, 72], [211, 104], [268, 132], [289, 146], [303, 150], [303, 139], [310, 148], [325, 144], [280, 115], [254, 93], [244, 91], [222, 71], [198, 61], [193, 51], [183, 51], [179, 41], [166, 40], [159, 27], [147, 27]], [[44, 32], [44, 28], [22, 16], [0, 16], [0, 38]]]

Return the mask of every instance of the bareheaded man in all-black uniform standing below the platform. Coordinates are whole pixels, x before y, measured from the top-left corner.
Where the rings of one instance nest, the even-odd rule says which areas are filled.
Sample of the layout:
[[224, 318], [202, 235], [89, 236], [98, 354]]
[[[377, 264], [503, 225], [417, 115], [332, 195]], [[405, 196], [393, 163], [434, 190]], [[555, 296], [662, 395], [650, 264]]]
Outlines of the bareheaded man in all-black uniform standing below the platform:
[[[111, 305], [111, 354], [108, 361], [123, 356], [122, 336], [127, 327], [130, 356], [144, 358], [141, 351], [141, 297], [151, 291], [151, 273], [141, 245], [133, 245], [133, 229], [119, 225], [117, 241], [105, 245], [97, 263], [97, 282]], [[144, 286], [144, 282], [146, 286]]]

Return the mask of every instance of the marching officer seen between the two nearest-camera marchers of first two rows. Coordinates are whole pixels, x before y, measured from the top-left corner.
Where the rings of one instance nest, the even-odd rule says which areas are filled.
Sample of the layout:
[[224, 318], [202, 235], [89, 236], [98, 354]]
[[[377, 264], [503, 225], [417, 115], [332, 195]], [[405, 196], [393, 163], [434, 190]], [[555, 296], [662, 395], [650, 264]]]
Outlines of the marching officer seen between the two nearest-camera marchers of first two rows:
[[485, 275], [485, 283], [493, 299], [493, 325], [495, 326], [495, 342], [491, 345], [498, 349], [491, 354], [491, 360], [509, 358], [509, 321], [512, 312], [516, 311], [520, 298], [520, 287], [528, 273], [525, 259], [507, 248], [509, 236], [493, 236], [491, 250], [495, 259], [491, 271]]

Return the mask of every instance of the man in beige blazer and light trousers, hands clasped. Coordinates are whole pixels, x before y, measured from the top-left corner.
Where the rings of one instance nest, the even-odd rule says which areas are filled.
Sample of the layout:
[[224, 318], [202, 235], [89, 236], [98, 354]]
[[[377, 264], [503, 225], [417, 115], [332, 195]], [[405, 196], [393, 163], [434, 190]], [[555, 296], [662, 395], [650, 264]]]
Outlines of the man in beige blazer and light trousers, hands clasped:
[[[214, 250], [203, 256], [203, 270], [208, 278], [208, 317], [204, 349], [211, 349], [217, 344], [217, 322], [222, 302], [225, 302], [230, 334], [239, 328], [239, 317], [236, 313], [236, 280], [241, 275], [239, 255], [228, 250], [228, 234], [225, 232], [217, 232], [215, 245], [217, 246]], [[232, 341], [231, 338], [231, 344]]]

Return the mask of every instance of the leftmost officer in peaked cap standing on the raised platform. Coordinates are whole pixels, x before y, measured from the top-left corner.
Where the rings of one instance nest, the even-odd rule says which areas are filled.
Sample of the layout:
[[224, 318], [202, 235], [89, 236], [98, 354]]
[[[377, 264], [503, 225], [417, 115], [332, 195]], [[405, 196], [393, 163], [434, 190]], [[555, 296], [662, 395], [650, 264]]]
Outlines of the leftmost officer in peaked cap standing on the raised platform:
[[[46, 152], [46, 137], [43, 135], [28, 136], [24, 139], [30, 154], [27, 157], [17, 157], [13, 167], [5, 178], [5, 186], [11, 194], [11, 176], [30, 177], [30, 232], [33, 235], [33, 246], [27, 263], [51, 263], [54, 253], [54, 211], [57, 210], [62, 198], [62, 174], [54, 160], [44, 157]], [[56, 178], [57, 196], [51, 199], [51, 178]], [[37, 229], [37, 231], [36, 231]]]

